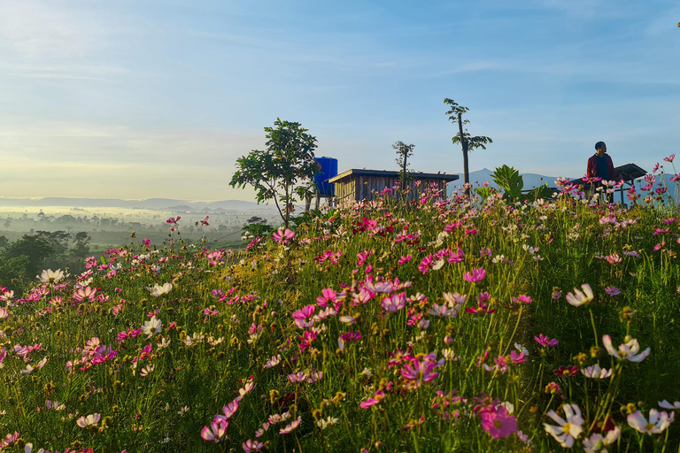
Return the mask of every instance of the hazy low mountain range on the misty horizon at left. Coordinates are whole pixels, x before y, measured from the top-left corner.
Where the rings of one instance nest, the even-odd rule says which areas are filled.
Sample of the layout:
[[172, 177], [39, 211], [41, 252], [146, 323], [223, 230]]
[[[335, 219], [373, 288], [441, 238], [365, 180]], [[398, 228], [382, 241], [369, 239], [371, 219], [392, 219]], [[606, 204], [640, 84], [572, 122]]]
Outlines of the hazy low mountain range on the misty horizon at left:
[[120, 198], [71, 198], [65, 196], [46, 196], [44, 198], [0, 197], [0, 206], [69, 206], [73, 208], [128, 208], [151, 211], [251, 211], [274, 209], [273, 206], [267, 206], [267, 204], [245, 202], [243, 200], [190, 202], [171, 198], [122, 200]]

